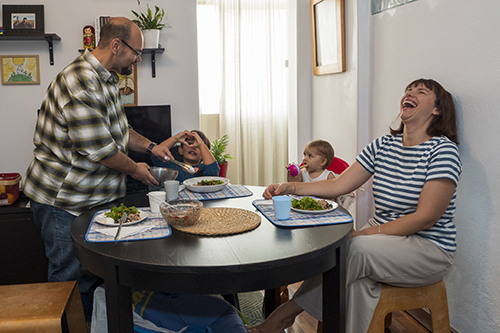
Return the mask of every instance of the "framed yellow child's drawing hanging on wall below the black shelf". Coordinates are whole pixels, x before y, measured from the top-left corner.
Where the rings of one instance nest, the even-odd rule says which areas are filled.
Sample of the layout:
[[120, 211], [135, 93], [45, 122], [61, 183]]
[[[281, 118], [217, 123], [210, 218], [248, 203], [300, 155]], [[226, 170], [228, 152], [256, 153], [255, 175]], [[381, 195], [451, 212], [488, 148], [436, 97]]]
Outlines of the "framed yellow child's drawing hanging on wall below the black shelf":
[[0, 56], [2, 84], [40, 84], [38, 55]]

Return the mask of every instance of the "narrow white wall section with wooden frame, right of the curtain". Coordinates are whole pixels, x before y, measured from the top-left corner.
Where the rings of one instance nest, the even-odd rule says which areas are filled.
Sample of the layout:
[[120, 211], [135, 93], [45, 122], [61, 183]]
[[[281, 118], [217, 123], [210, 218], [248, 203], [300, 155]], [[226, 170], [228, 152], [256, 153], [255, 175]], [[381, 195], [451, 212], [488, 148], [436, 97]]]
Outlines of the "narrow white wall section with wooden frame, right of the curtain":
[[307, 103], [302, 101], [300, 104], [299, 100], [299, 159], [302, 159], [305, 144], [316, 139], [329, 141], [335, 149], [335, 155], [349, 163], [356, 156], [356, 140], [344, 139], [346, 133], [356, 133], [357, 126], [356, 4], [346, 1], [345, 13], [346, 72], [312, 77], [310, 2], [297, 0], [298, 71], [302, 73], [302, 76], [299, 75], [299, 94], [306, 94], [312, 84], [312, 96]]

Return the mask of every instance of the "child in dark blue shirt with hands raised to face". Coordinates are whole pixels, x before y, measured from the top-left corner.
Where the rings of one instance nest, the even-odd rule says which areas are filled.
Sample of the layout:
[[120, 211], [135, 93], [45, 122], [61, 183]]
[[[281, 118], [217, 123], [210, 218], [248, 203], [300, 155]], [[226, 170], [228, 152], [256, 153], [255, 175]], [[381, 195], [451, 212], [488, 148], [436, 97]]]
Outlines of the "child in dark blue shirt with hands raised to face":
[[179, 174], [176, 178], [179, 182], [183, 182], [193, 177], [219, 175], [219, 164], [217, 164], [217, 161], [215, 161], [214, 156], [210, 152], [210, 140], [208, 140], [202, 131], [184, 130], [171, 136], [159, 145], [172, 149], [177, 143], [180, 143], [178, 151], [182, 156], [182, 161], [192, 166], [196, 170], [195, 173], [190, 174], [170, 161], [163, 162], [156, 158], [151, 158], [153, 164], [155, 166], [179, 170]]

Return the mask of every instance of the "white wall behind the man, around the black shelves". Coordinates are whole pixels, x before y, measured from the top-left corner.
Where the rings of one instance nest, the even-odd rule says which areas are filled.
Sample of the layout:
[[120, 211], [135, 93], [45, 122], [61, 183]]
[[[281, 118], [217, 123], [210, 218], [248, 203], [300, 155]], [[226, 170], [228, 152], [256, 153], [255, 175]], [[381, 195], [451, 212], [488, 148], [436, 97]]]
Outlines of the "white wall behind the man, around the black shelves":
[[[93, 25], [95, 16], [133, 19], [130, 10], [138, 11], [137, 1], [132, 0], [32, 0], [29, 4], [44, 5], [45, 31], [57, 33], [62, 40], [54, 42], [54, 66], [49, 64], [45, 41], [0, 42], [0, 55], [38, 54], [41, 67], [40, 85], [0, 85], [0, 172], [26, 171], [32, 159], [36, 110], [50, 81], [83, 48], [83, 27]], [[156, 56], [156, 78], [151, 77], [149, 55], [138, 65], [138, 103], [170, 104], [174, 133], [198, 128], [196, 0], [143, 0], [143, 11], [148, 4], [164, 8], [166, 23], [173, 29], [162, 31], [160, 44], [165, 52]]]

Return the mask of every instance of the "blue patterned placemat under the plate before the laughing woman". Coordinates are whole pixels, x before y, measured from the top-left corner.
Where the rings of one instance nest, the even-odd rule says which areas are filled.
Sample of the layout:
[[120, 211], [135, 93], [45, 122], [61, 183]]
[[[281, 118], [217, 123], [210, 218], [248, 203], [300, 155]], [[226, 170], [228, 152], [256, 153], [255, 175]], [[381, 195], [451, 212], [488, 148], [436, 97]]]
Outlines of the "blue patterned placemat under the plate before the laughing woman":
[[252, 204], [271, 221], [271, 223], [280, 227], [306, 227], [352, 222], [352, 216], [344, 213], [340, 209], [334, 209], [324, 214], [304, 214], [292, 210], [288, 220], [278, 220], [274, 217], [273, 205], [272, 203], [269, 204], [269, 200], [257, 199], [252, 201]]

